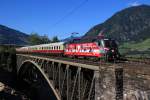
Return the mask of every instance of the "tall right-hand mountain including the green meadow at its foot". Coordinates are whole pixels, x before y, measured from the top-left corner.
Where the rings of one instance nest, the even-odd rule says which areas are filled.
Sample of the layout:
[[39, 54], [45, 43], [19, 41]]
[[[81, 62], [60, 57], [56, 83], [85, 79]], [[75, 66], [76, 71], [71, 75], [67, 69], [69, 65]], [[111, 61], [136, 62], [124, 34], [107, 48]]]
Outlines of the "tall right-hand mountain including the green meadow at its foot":
[[150, 6], [129, 7], [91, 28], [82, 38], [89, 42], [99, 33], [118, 41], [121, 54], [150, 56]]

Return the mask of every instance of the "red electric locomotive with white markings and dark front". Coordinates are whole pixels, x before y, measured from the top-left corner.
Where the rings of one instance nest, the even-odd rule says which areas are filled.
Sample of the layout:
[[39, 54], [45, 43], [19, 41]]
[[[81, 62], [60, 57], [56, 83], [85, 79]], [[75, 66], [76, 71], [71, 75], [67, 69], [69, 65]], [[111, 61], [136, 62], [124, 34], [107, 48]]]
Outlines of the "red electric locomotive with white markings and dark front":
[[101, 38], [95, 42], [69, 43], [65, 46], [65, 56], [95, 57], [107, 60], [119, 59], [117, 44], [113, 39]]

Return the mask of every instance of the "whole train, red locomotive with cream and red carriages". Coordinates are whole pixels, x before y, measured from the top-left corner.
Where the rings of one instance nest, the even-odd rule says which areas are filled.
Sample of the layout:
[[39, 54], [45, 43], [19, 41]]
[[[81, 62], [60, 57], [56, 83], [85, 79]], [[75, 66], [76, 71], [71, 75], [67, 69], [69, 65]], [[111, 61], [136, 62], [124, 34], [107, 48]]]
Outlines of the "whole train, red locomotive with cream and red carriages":
[[119, 59], [120, 53], [114, 39], [99, 38], [93, 42], [56, 42], [16, 48], [19, 53], [36, 53], [64, 57]]

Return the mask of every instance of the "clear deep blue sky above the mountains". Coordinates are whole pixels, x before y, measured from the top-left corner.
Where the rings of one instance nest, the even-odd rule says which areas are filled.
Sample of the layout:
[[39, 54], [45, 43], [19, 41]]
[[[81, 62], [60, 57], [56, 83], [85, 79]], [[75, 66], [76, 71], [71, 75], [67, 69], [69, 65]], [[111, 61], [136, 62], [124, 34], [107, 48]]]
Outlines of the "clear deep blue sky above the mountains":
[[150, 0], [0, 0], [0, 24], [21, 32], [67, 38], [84, 35], [116, 12]]

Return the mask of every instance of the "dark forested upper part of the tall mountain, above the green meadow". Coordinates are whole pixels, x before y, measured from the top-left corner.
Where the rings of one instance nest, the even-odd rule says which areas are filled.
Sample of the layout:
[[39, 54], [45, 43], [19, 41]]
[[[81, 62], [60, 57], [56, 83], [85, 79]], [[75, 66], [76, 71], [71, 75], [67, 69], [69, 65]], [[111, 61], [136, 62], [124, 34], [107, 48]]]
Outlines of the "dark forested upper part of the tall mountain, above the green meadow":
[[94, 37], [101, 31], [119, 43], [141, 42], [150, 38], [150, 6], [141, 5], [119, 11], [104, 23], [91, 28], [83, 39], [90, 41], [89, 37]]

